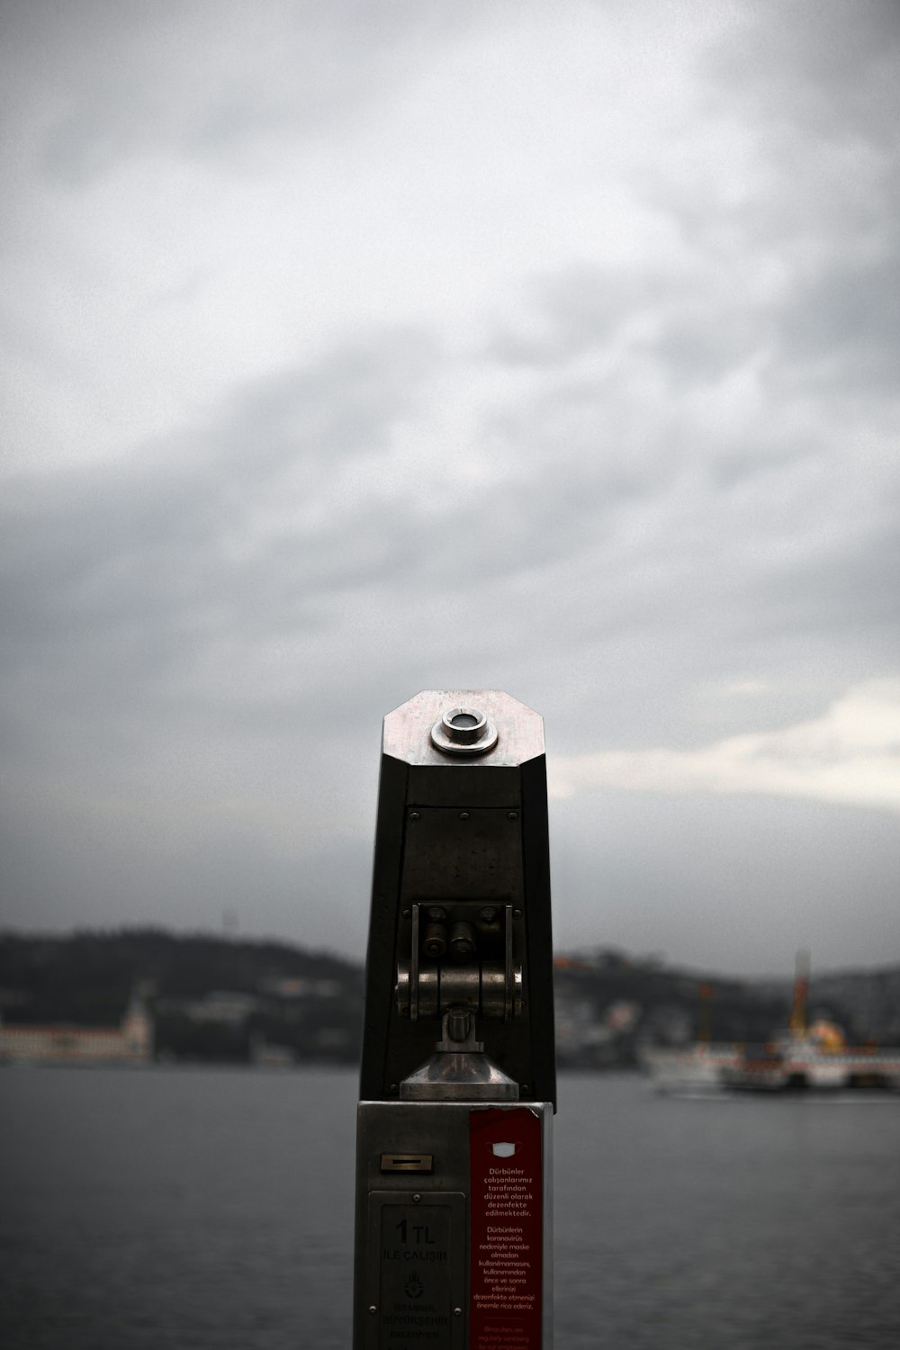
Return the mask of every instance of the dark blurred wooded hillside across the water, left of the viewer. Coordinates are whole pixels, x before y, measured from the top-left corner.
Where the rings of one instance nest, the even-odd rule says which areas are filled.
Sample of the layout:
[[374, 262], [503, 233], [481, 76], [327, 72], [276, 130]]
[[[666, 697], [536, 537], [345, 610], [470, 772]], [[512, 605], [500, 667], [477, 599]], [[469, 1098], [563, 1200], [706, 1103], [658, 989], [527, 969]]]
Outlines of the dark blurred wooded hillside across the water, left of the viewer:
[[5, 1022], [113, 1025], [139, 994], [163, 1058], [354, 1062], [362, 987], [359, 965], [285, 942], [157, 929], [0, 934]]

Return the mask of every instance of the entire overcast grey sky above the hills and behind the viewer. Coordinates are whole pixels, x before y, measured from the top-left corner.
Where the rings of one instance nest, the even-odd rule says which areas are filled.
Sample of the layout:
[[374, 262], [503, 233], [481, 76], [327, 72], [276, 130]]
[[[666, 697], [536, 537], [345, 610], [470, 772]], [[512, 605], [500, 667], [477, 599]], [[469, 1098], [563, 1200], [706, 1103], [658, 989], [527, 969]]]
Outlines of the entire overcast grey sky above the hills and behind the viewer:
[[3, 922], [362, 956], [381, 720], [482, 687], [560, 948], [900, 960], [895, 0], [0, 53]]

